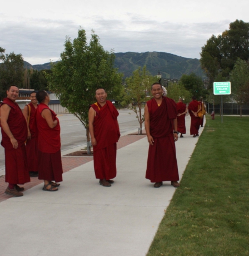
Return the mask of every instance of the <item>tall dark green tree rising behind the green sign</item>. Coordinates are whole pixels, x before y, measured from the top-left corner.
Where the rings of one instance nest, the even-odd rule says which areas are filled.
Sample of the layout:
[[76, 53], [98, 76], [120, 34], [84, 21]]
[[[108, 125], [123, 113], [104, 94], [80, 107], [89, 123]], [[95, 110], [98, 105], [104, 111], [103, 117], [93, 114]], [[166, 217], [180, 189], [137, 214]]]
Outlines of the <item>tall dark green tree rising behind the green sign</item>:
[[237, 58], [248, 60], [249, 58], [249, 23], [239, 21], [231, 22], [229, 29], [217, 37], [212, 35], [202, 47], [201, 66], [206, 72], [210, 81], [210, 88], [219, 75], [221, 70], [222, 76], [228, 80], [229, 73]]

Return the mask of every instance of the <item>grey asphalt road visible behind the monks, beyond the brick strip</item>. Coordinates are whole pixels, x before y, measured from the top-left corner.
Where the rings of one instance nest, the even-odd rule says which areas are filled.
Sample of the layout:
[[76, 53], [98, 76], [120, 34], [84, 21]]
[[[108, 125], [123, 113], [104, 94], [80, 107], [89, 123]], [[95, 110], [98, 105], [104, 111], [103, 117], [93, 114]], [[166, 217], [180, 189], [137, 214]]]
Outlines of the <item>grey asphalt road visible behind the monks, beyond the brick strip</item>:
[[[77, 117], [67, 114], [58, 115], [58, 119], [61, 125], [61, 151], [86, 144], [86, 129]], [[136, 114], [132, 110], [119, 110], [118, 122], [121, 134], [139, 127]], [[4, 169], [4, 149], [0, 146], [0, 170], [2, 169]]]

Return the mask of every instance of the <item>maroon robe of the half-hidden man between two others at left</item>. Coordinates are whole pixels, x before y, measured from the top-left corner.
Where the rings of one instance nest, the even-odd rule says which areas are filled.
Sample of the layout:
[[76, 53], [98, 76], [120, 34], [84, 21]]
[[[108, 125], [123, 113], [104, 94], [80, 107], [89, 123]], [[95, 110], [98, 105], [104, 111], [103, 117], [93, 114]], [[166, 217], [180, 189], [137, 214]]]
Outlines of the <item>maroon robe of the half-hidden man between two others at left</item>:
[[28, 170], [29, 171], [38, 171], [37, 135], [36, 135], [36, 130], [33, 128], [34, 113], [36, 112], [36, 108], [34, 107], [32, 102], [29, 103], [28, 105], [31, 107], [30, 116], [29, 116], [29, 131], [31, 132], [31, 139], [27, 140], [27, 142], [26, 142]]

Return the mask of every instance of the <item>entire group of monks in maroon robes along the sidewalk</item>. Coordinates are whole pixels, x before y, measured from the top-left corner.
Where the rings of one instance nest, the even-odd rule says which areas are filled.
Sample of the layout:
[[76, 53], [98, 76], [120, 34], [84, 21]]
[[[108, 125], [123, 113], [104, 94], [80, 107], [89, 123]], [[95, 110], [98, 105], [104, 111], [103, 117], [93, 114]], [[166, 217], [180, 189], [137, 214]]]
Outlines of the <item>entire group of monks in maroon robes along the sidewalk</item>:
[[[163, 181], [171, 181], [178, 188], [179, 174], [176, 160], [175, 142], [178, 134], [186, 134], [185, 115], [191, 115], [190, 132], [198, 136], [202, 107], [192, 98], [188, 108], [182, 99], [176, 104], [163, 96], [160, 83], [151, 86], [153, 99], [145, 106], [145, 130], [149, 143], [146, 179], [160, 188]], [[59, 120], [49, 109], [49, 95], [46, 91], [31, 93], [31, 103], [19, 108], [16, 99], [17, 86], [10, 86], [7, 98], [1, 107], [1, 145], [5, 151], [6, 194], [22, 196], [24, 184], [30, 176], [44, 180], [44, 191], [58, 191], [62, 181], [61, 138]], [[110, 187], [117, 175], [117, 142], [120, 137], [118, 111], [103, 88], [96, 90], [97, 102], [89, 107], [89, 132], [93, 146], [93, 165], [99, 184]], [[39, 104], [38, 104], [39, 102]], [[202, 104], [203, 106], [203, 104]]]

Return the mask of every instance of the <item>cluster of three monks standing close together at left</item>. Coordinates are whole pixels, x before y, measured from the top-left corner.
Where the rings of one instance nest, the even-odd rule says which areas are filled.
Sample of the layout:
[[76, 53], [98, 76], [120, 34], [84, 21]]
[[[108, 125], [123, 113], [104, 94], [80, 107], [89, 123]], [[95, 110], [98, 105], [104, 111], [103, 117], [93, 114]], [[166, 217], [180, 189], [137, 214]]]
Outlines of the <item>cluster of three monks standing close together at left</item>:
[[[59, 120], [49, 109], [46, 91], [31, 93], [31, 103], [20, 109], [17, 86], [9, 86], [1, 107], [1, 132], [8, 183], [6, 194], [23, 196], [30, 176], [44, 180], [44, 191], [57, 191], [62, 181]], [[39, 105], [38, 105], [39, 102]], [[53, 182], [53, 180], [55, 182]]]

